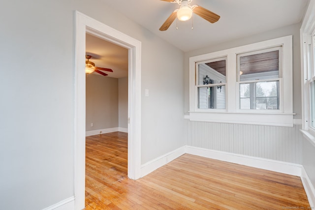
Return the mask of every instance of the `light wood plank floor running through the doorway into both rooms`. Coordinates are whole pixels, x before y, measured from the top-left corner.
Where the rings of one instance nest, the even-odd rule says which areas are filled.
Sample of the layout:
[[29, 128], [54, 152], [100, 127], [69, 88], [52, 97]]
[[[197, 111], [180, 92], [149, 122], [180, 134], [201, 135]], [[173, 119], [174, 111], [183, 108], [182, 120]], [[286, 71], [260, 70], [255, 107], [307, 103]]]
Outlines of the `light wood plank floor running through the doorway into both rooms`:
[[86, 138], [86, 210], [308, 209], [301, 179], [190, 154], [127, 178], [127, 134]]

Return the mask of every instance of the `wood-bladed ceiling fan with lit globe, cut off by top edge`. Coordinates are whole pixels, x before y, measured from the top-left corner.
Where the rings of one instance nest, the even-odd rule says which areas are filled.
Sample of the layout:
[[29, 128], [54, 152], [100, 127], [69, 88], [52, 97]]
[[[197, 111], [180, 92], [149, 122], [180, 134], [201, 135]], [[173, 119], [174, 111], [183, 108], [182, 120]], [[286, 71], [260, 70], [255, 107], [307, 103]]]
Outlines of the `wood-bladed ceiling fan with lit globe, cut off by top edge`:
[[190, 6], [192, 0], [163, 0], [171, 3], [178, 3], [180, 5], [179, 9], [175, 9], [174, 12], [166, 19], [159, 30], [167, 30], [176, 17], [181, 21], [187, 21], [191, 18], [192, 13], [202, 17], [210, 23], [215, 23], [220, 19], [220, 16], [216, 13], [209, 11], [199, 5]]

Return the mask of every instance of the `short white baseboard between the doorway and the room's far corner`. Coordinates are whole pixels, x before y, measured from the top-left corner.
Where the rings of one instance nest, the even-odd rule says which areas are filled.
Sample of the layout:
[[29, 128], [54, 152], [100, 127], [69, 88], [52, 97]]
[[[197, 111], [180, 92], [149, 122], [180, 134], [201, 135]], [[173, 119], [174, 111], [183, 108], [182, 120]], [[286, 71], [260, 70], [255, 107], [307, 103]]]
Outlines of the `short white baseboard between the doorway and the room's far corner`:
[[162, 156], [159, 156], [141, 165], [141, 178], [157, 170], [161, 166], [171, 162], [172, 160], [175, 160], [176, 158], [182, 156], [185, 153], [186, 153], [186, 149], [185, 149], [185, 146], [183, 146], [177, 150], [170, 151]]

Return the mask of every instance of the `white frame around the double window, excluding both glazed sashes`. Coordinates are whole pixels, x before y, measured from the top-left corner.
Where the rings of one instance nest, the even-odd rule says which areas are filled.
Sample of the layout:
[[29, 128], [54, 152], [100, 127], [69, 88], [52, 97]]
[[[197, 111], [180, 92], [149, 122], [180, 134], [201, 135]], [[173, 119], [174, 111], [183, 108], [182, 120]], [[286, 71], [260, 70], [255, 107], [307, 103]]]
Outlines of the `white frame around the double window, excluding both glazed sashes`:
[[[240, 110], [237, 55], [282, 46], [280, 110]], [[225, 110], [198, 109], [196, 64], [226, 57]], [[189, 120], [293, 126], [292, 35], [189, 58]]]

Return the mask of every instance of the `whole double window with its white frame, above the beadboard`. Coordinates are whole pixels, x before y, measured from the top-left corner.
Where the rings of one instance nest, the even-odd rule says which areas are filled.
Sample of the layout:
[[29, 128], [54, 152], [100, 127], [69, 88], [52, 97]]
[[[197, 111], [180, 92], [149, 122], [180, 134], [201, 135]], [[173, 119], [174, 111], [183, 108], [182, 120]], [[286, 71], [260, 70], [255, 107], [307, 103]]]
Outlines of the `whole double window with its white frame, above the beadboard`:
[[190, 120], [293, 126], [292, 36], [191, 57], [189, 92]]

